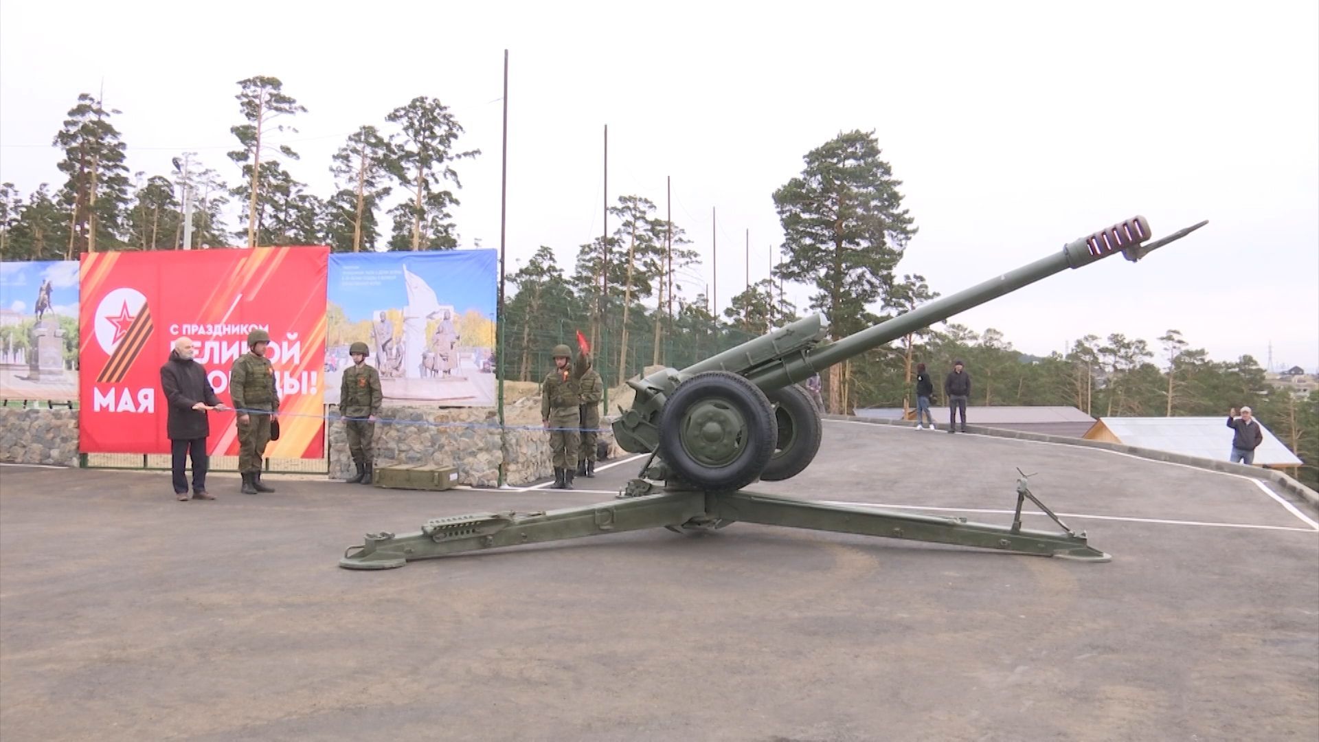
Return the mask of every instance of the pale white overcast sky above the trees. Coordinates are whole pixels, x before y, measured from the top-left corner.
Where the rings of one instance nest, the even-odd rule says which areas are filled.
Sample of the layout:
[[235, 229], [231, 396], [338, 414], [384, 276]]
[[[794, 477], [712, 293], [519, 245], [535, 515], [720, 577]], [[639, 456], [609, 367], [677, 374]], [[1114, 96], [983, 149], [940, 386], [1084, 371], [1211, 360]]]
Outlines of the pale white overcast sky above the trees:
[[[508, 261], [539, 244], [566, 272], [611, 202], [665, 209], [720, 309], [769, 272], [770, 194], [840, 131], [876, 132], [919, 234], [900, 273], [943, 294], [1134, 214], [1155, 235], [1210, 224], [1140, 264], [1045, 280], [956, 322], [1047, 354], [1087, 333], [1182, 330], [1211, 358], [1319, 367], [1319, 11], [1242, 3], [224, 4], [7, 1], [0, 180], [62, 182], [49, 147], [104, 82], [131, 170], [195, 151], [232, 184], [239, 79], [307, 107], [288, 164], [328, 195], [330, 154], [417, 95], [479, 148], [458, 170], [464, 247], [500, 240], [503, 51], [509, 50]], [[36, 145], [36, 147], [33, 147]], [[776, 247], [772, 247], [776, 246]], [[789, 288], [803, 305], [809, 290]]]

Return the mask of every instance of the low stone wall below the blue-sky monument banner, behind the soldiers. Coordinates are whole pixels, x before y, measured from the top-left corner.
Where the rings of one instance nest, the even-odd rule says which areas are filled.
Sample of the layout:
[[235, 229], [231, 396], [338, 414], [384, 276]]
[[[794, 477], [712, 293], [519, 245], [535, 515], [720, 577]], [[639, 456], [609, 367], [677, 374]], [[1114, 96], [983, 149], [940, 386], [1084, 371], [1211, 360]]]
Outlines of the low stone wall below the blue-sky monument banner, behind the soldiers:
[[[335, 407], [331, 415], [338, 415]], [[554, 475], [550, 434], [533, 425], [509, 422], [505, 448], [500, 449], [499, 416], [487, 408], [385, 407], [376, 424], [376, 466], [434, 463], [458, 469], [458, 482], [474, 487], [499, 486], [504, 462], [508, 485], [526, 485]], [[601, 422], [601, 426], [608, 426]], [[601, 434], [601, 440], [612, 440]], [[330, 478], [353, 474], [343, 422], [330, 424]]]

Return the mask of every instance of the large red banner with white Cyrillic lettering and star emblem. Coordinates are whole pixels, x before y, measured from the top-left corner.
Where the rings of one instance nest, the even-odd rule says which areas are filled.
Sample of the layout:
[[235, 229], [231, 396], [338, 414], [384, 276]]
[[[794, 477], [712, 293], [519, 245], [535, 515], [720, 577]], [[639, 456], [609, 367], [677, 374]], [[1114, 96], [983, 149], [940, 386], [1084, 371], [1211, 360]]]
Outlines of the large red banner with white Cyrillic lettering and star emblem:
[[[230, 368], [253, 327], [280, 389], [280, 440], [265, 455], [321, 458], [326, 247], [259, 247], [82, 256], [78, 444], [83, 453], [169, 453], [161, 366], [193, 339], [227, 405]], [[212, 454], [237, 455], [233, 412], [210, 412]]]

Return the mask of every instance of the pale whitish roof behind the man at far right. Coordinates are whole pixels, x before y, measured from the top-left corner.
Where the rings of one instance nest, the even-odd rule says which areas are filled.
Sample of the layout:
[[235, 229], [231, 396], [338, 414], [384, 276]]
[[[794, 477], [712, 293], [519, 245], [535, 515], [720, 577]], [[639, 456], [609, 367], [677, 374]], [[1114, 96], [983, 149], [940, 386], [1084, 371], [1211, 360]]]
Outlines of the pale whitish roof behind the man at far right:
[[[1258, 419], [1256, 419], [1258, 421]], [[1227, 459], [1232, 453], [1232, 430], [1221, 417], [1100, 417], [1091, 433], [1103, 425], [1129, 446], [1166, 450], [1200, 458]], [[1260, 422], [1264, 442], [1254, 449], [1254, 462], [1266, 466], [1299, 466], [1291, 453], [1269, 428]], [[1086, 437], [1093, 437], [1087, 433]]]

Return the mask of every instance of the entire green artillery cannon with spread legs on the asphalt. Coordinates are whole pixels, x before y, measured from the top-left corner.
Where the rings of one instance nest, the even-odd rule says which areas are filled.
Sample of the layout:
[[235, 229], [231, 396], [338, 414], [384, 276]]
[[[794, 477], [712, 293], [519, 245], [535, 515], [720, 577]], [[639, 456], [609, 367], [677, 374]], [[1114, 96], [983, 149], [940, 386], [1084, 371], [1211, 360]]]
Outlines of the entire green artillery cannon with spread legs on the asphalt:
[[[820, 415], [795, 386], [798, 382], [1064, 269], [1119, 252], [1137, 261], [1206, 223], [1149, 242], [1149, 223], [1144, 217], [1134, 217], [1074, 240], [1060, 252], [836, 342], [826, 339], [826, 329], [816, 314], [681, 371], [663, 368], [630, 380], [628, 384], [636, 397], [630, 409], [620, 408], [613, 433], [624, 450], [650, 455], [640, 477], [629, 481], [615, 500], [528, 514], [503, 511], [438, 518], [423, 524], [419, 532], [397, 536], [367, 533], [363, 545], [348, 548], [339, 566], [389, 569], [412, 560], [464, 551], [656, 527], [677, 532], [707, 531], [739, 520], [1109, 561], [1107, 553], [1088, 545], [1084, 532], [1067, 528], [1030, 492], [1025, 474], [1017, 481], [1017, 511], [1008, 527], [741, 489], [756, 479], [794, 477], [819, 450]], [[1028, 498], [1062, 528], [1060, 533], [1021, 527], [1021, 507]]]

